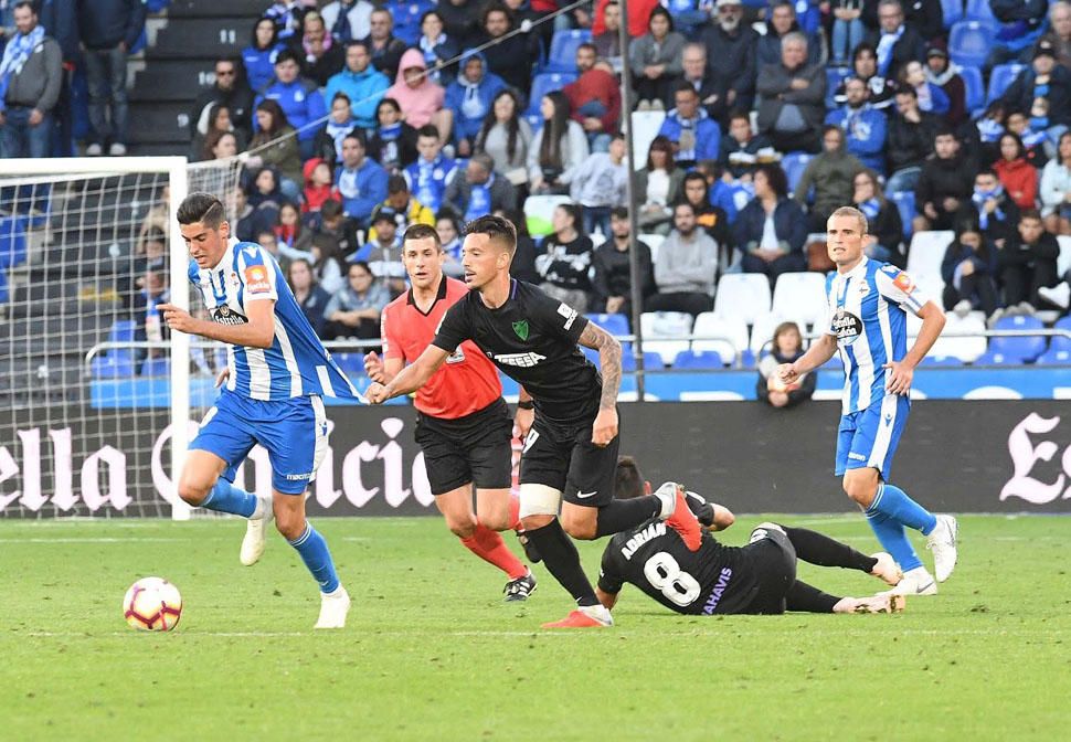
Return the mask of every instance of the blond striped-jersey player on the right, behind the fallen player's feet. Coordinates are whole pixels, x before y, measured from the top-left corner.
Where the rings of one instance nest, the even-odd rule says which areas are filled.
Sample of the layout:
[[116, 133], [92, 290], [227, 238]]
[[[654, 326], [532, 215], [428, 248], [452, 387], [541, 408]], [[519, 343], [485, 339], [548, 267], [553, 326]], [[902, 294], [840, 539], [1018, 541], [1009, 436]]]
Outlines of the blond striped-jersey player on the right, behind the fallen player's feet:
[[[827, 233], [829, 257], [837, 265], [826, 282], [828, 320], [810, 349], [778, 367], [778, 373], [791, 383], [839, 350], [845, 391], [836, 473], [844, 477], [848, 497], [865, 509], [878, 541], [903, 570], [903, 580], [893, 590], [934, 595], [936, 583], [947, 580], [955, 568], [958, 524], [952, 516], [934, 516], [888, 479], [911, 409], [914, 369], [941, 335], [944, 312], [906, 273], [865, 255], [871, 237], [862, 212], [838, 209], [827, 222]], [[922, 319], [910, 349], [908, 311]], [[908, 540], [904, 526], [925, 534], [936, 582]]]

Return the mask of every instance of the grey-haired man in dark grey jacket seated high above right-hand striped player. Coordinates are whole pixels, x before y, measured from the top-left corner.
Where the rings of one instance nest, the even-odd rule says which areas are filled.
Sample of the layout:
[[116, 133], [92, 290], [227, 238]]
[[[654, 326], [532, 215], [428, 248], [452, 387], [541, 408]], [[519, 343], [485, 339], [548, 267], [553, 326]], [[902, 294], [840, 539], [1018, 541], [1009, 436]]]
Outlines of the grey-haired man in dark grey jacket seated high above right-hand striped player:
[[782, 151], [818, 151], [816, 134], [826, 117], [826, 72], [807, 64], [807, 39], [789, 33], [781, 42], [781, 63], [759, 74], [759, 130]]

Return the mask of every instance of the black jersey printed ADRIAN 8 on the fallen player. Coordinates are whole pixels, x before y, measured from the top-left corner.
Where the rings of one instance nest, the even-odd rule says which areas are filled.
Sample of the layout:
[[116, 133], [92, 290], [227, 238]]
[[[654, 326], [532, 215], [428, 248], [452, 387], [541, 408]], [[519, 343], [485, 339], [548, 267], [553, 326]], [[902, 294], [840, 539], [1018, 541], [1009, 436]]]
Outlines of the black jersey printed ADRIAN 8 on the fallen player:
[[677, 613], [751, 613], [763, 587], [764, 551], [757, 543], [725, 547], [709, 533], [689, 551], [674, 529], [651, 520], [606, 544], [598, 587], [616, 594], [627, 582]]

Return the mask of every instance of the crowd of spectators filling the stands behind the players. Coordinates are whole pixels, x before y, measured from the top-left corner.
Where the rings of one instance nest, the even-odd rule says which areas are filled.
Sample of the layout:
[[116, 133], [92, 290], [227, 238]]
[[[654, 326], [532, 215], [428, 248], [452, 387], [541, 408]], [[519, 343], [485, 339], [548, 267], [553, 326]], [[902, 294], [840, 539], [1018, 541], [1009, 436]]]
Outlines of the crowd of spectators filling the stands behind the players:
[[[3, 156], [63, 151], [79, 50], [84, 151], [123, 155], [117, 71], [142, 3], [8, 4]], [[241, 55], [216, 61], [191, 157], [245, 158], [235, 234], [279, 257], [325, 338], [378, 336], [409, 224], [436, 227], [458, 275], [460, 225], [491, 212], [522, 227], [516, 277], [629, 312], [625, 65], [636, 110], [660, 121], [636, 152], [645, 310], [709, 311], [725, 274], [829, 269], [825, 220], [853, 204], [869, 254], [901, 267], [913, 232], [954, 232], [946, 309], [1067, 311], [1071, 3], [634, 0], [627, 21], [615, 0], [560, 6], [265, 2]], [[534, 237], [530, 197], [556, 204]], [[162, 239], [142, 233], [142, 251]]]

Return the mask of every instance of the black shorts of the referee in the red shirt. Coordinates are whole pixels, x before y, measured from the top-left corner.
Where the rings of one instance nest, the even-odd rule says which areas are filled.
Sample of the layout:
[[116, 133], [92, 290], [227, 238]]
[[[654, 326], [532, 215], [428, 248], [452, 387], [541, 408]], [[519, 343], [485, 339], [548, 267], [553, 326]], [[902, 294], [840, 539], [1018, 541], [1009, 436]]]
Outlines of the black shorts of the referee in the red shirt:
[[509, 489], [512, 484], [513, 421], [501, 398], [456, 420], [417, 413], [414, 437], [424, 452], [432, 495], [469, 483], [477, 489]]

